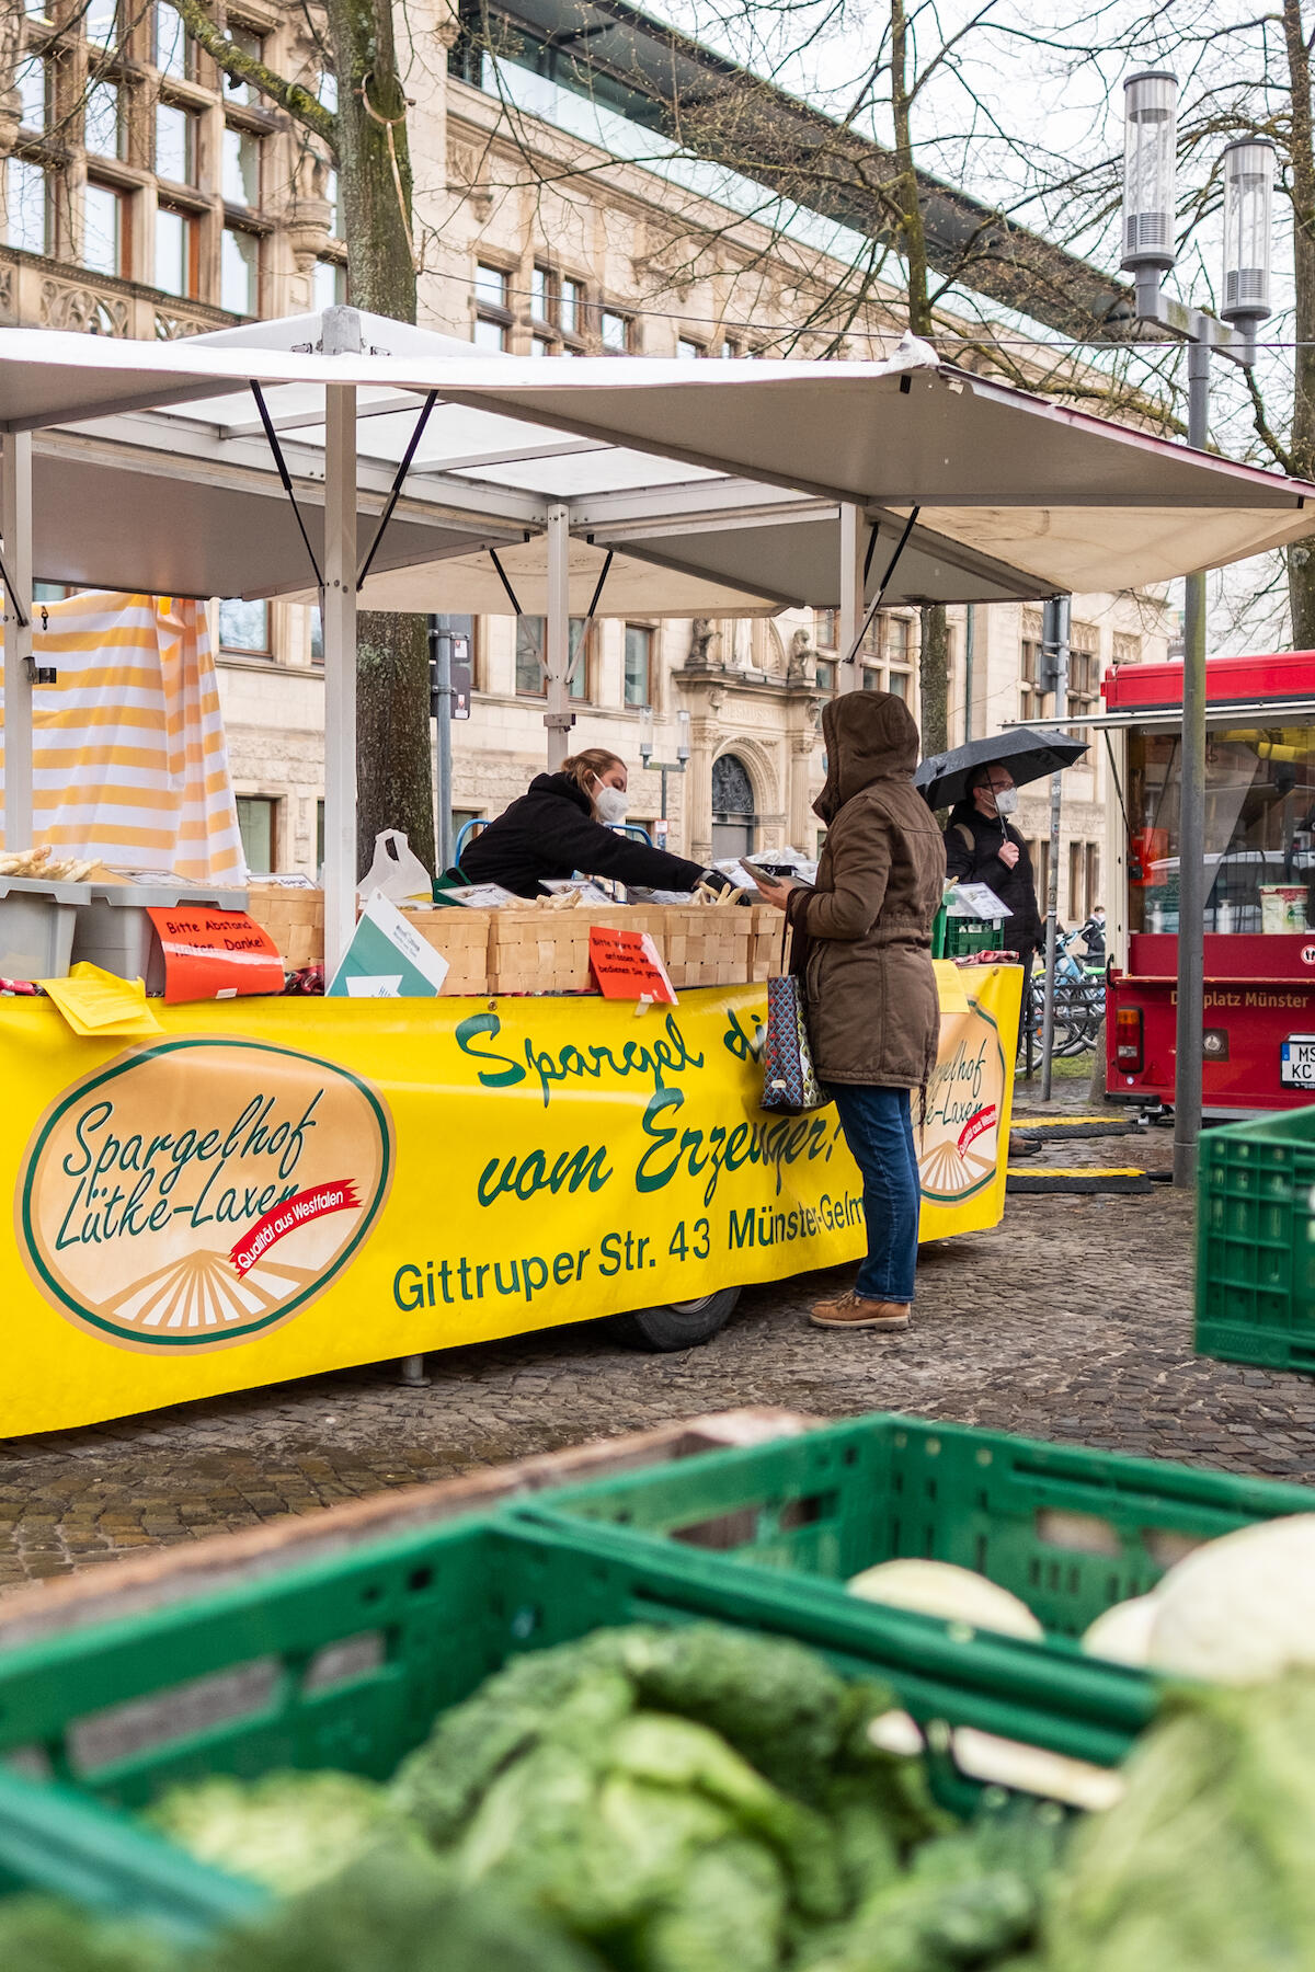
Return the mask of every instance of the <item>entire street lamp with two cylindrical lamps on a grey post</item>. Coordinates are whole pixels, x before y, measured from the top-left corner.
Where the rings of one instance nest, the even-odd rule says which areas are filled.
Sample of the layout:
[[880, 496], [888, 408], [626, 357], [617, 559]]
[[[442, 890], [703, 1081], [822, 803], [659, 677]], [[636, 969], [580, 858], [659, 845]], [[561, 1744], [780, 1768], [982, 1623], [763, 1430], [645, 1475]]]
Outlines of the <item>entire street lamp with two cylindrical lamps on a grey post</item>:
[[[1218, 321], [1161, 294], [1175, 254], [1177, 79], [1165, 69], [1124, 83], [1124, 266], [1136, 312], [1187, 345], [1187, 442], [1205, 450], [1211, 355], [1256, 361], [1256, 327], [1270, 314], [1274, 148], [1224, 148], [1224, 284]], [[1177, 1067], [1173, 1183], [1193, 1185], [1201, 1138], [1205, 1029], [1205, 574], [1187, 576], [1183, 609], [1183, 799], [1179, 812]]]

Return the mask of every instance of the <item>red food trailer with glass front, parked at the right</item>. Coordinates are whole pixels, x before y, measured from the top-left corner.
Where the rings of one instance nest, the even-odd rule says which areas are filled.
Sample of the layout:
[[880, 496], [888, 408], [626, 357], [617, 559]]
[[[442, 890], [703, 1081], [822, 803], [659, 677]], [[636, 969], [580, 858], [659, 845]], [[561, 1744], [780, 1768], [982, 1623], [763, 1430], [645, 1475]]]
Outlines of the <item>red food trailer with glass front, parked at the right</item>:
[[[1102, 690], [1106, 1087], [1173, 1102], [1183, 667], [1124, 665]], [[1315, 1100], [1315, 651], [1207, 665], [1205, 773], [1205, 1114], [1301, 1108]]]

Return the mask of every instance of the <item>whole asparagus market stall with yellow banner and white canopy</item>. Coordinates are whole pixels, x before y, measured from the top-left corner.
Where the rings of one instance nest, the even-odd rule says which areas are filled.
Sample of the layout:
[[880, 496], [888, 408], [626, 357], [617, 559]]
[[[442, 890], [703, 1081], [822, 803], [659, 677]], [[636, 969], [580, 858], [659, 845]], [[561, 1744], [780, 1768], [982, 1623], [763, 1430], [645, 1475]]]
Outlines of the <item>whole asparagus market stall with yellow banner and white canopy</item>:
[[[751, 607], [775, 599], [753, 590], [763, 566], [755, 530], [781, 530], [785, 515], [763, 485], [735, 475], [834, 503], [832, 513], [795, 515], [834, 528], [834, 568], [816, 576], [818, 590], [802, 574], [791, 582], [800, 599], [838, 601], [852, 625], [911, 580], [921, 596], [946, 599], [1147, 582], [1185, 560], [1230, 560], [1309, 528], [1313, 489], [944, 371], [925, 345], [875, 365], [708, 369], [690, 379], [682, 365], [639, 359], [574, 363], [560, 381], [554, 367], [544, 387], [515, 359], [436, 355], [420, 331], [363, 323], [351, 310], [313, 317], [310, 329], [258, 323], [150, 351], [2, 331], [14, 596], [6, 844], [32, 840], [24, 598], [34, 574], [79, 580], [87, 548], [67, 517], [51, 525], [45, 513], [34, 564], [34, 428], [59, 428], [51, 456], [81, 448], [89, 471], [134, 473], [146, 495], [156, 483], [166, 507], [195, 456], [217, 501], [215, 527], [227, 477], [258, 471], [266, 436], [306, 448], [317, 499], [284, 513], [280, 568], [262, 570], [262, 586], [304, 584], [308, 558], [321, 578], [329, 970], [357, 907], [353, 653], [371, 554], [377, 568], [390, 558], [432, 564], [438, 584], [451, 560], [469, 558], [479, 528], [540, 540], [552, 759], [572, 722], [572, 528], [601, 525], [593, 509], [603, 497], [617, 530], [639, 528], [625, 550], [635, 580], [649, 568], [686, 586], [722, 584]], [[264, 392], [260, 418], [252, 383]], [[173, 408], [152, 408], [162, 404]], [[534, 442], [526, 428], [542, 426], [548, 434]], [[412, 465], [428, 473], [428, 499], [408, 479]], [[272, 481], [274, 469], [264, 471]], [[248, 477], [239, 491], [268, 497]], [[688, 538], [694, 515], [702, 548]], [[390, 532], [398, 519], [410, 534]], [[450, 536], [436, 546], [442, 528]], [[639, 538], [645, 528], [655, 538]], [[140, 507], [101, 503], [99, 566], [118, 554], [126, 580], [134, 558], [158, 552], [144, 538]], [[789, 525], [775, 538], [791, 538]], [[183, 534], [170, 552], [185, 562], [189, 548]], [[229, 548], [211, 527], [197, 566], [209, 588], [237, 594]], [[229, 568], [233, 578], [217, 580]], [[471, 572], [485, 576], [483, 566]], [[185, 576], [173, 588], [185, 590]], [[436, 588], [440, 605], [463, 607], [455, 570]], [[209, 988], [189, 1004], [142, 1002], [124, 1023], [97, 1023], [85, 1002], [69, 1021], [77, 994], [57, 996], [63, 1010], [6, 1004], [12, 1124], [0, 1163], [16, 1197], [10, 1339], [20, 1374], [0, 1396], [0, 1432], [655, 1303], [704, 1323], [718, 1303], [724, 1317], [724, 1298], [745, 1282], [860, 1252], [858, 1179], [834, 1118], [767, 1118], [757, 1106], [761, 937], [747, 931], [745, 962], [731, 952], [727, 970], [724, 954], [708, 966], [688, 949], [676, 954], [672, 925], [660, 956], [676, 1004], [645, 1010], [582, 998], [588, 964], [572, 976], [574, 992], [544, 996], [558, 974], [542, 954], [517, 962], [528, 949], [520, 917], [493, 913], [479, 925], [463, 911], [426, 913], [426, 945], [442, 952], [444, 941], [461, 943], [463, 970], [448, 982], [461, 984], [457, 998], [215, 1004], [205, 974]], [[540, 913], [538, 927], [546, 921]], [[276, 966], [280, 956], [274, 943]], [[1011, 966], [942, 972], [925, 1238], [992, 1225], [1004, 1209], [1017, 980]]]

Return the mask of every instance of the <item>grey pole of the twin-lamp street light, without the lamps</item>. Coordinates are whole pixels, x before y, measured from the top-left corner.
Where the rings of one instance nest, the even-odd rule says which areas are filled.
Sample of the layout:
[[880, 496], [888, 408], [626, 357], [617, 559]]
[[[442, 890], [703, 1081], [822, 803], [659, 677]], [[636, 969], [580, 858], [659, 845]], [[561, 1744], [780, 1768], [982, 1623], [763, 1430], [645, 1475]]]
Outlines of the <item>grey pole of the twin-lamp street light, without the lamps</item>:
[[[1205, 452], [1211, 345], [1187, 345], [1187, 442]], [[1173, 1183], [1197, 1181], [1205, 1035], [1205, 576], [1187, 578], [1183, 609], [1183, 803], [1179, 812], [1179, 1004], [1173, 1077]]]

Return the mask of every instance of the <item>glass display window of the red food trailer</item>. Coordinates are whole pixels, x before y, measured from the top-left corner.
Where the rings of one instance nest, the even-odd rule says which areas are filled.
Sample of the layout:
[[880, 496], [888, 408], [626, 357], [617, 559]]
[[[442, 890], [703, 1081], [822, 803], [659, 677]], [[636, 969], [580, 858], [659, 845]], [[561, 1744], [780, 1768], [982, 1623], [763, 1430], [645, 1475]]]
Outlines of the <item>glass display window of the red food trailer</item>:
[[[1177, 931], [1179, 799], [1177, 734], [1128, 736], [1128, 929]], [[1287, 887], [1291, 929], [1315, 927], [1315, 726], [1246, 726], [1207, 736], [1205, 929], [1278, 929]]]

